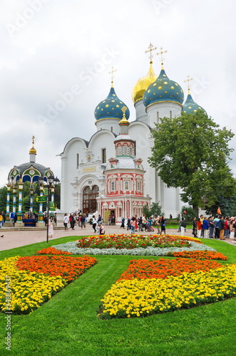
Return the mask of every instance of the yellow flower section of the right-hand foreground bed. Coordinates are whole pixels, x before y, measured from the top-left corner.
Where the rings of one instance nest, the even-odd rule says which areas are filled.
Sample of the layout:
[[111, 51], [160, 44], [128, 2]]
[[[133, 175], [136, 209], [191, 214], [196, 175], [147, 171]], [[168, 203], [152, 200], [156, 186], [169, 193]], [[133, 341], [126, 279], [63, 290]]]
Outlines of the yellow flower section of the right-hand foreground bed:
[[[188, 260], [181, 261], [180, 264], [184, 266], [187, 262]], [[198, 263], [200, 262], [204, 268], [203, 264], [210, 261], [198, 261]], [[137, 265], [134, 275], [141, 273], [143, 276], [142, 273], [146, 273], [146, 271], [139, 270], [138, 262], [135, 261], [135, 263]], [[215, 266], [218, 265], [220, 263]], [[145, 276], [143, 279], [139, 276], [139, 278], [128, 280], [121, 279], [113, 284], [104, 295], [98, 315], [101, 318], [140, 317], [179, 308], [190, 308], [202, 303], [212, 303], [235, 296], [236, 265], [216, 268], [210, 269], [210, 271], [183, 272], [180, 276], [171, 276], [172, 270], [168, 278], [166, 278], [165, 271], [164, 278]]]

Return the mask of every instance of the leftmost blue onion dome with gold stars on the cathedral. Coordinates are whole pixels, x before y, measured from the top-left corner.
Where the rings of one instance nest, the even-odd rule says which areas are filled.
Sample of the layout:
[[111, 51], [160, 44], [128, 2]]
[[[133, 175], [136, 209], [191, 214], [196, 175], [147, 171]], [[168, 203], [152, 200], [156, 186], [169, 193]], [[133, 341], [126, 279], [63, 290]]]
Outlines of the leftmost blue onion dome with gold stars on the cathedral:
[[[94, 116], [96, 120], [103, 119], [118, 119], [121, 120], [123, 117], [123, 111], [121, 110], [123, 106], [126, 106], [123, 101], [121, 101], [116, 95], [113, 85], [111, 86], [110, 93], [108, 97], [101, 101], [95, 109]], [[130, 110], [126, 110], [125, 116], [128, 119], [130, 117]]]

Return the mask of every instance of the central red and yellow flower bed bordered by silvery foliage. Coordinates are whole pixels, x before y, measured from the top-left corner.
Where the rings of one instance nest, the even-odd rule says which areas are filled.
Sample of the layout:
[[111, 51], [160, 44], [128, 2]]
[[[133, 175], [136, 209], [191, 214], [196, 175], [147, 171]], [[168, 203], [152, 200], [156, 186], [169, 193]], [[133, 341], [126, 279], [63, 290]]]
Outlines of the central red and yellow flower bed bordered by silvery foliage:
[[199, 239], [173, 235], [99, 235], [78, 240], [78, 248], [167, 248], [188, 247], [190, 239], [201, 244]]

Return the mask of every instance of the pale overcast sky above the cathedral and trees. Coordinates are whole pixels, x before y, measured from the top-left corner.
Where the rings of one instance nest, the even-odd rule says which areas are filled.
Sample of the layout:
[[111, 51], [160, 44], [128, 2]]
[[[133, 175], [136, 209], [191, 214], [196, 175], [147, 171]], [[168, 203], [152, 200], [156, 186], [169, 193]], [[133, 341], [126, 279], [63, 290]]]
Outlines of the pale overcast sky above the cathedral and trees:
[[[163, 46], [165, 71], [220, 127], [236, 133], [233, 0], [1, 0], [0, 187], [14, 165], [36, 162], [61, 179], [68, 140], [96, 132], [94, 109], [111, 86], [128, 105], [133, 86], [148, 72], [149, 43]], [[160, 56], [153, 58], [160, 72]], [[236, 175], [236, 138], [230, 141]]]

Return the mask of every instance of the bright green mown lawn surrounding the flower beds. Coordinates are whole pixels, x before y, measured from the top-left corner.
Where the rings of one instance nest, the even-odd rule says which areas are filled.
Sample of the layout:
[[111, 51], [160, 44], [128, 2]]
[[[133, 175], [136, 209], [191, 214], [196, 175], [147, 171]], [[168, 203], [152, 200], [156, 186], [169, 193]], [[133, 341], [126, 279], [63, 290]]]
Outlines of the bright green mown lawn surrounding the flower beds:
[[[69, 236], [49, 244], [1, 251], [0, 258], [29, 256], [48, 245], [73, 240], [75, 236]], [[227, 263], [236, 263], [235, 246], [216, 240], [204, 243], [228, 256]], [[130, 259], [142, 256], [96, 257], [96, 266], [34, 313], [12, 315], [12, 355], [235, 355], [235, 298], [148, 318], [98, 319], [96, 312], [103, 295]], [[4, 345], [4, 317], [2, 314], [0, 318], [0, 355], [9, 355]]]

